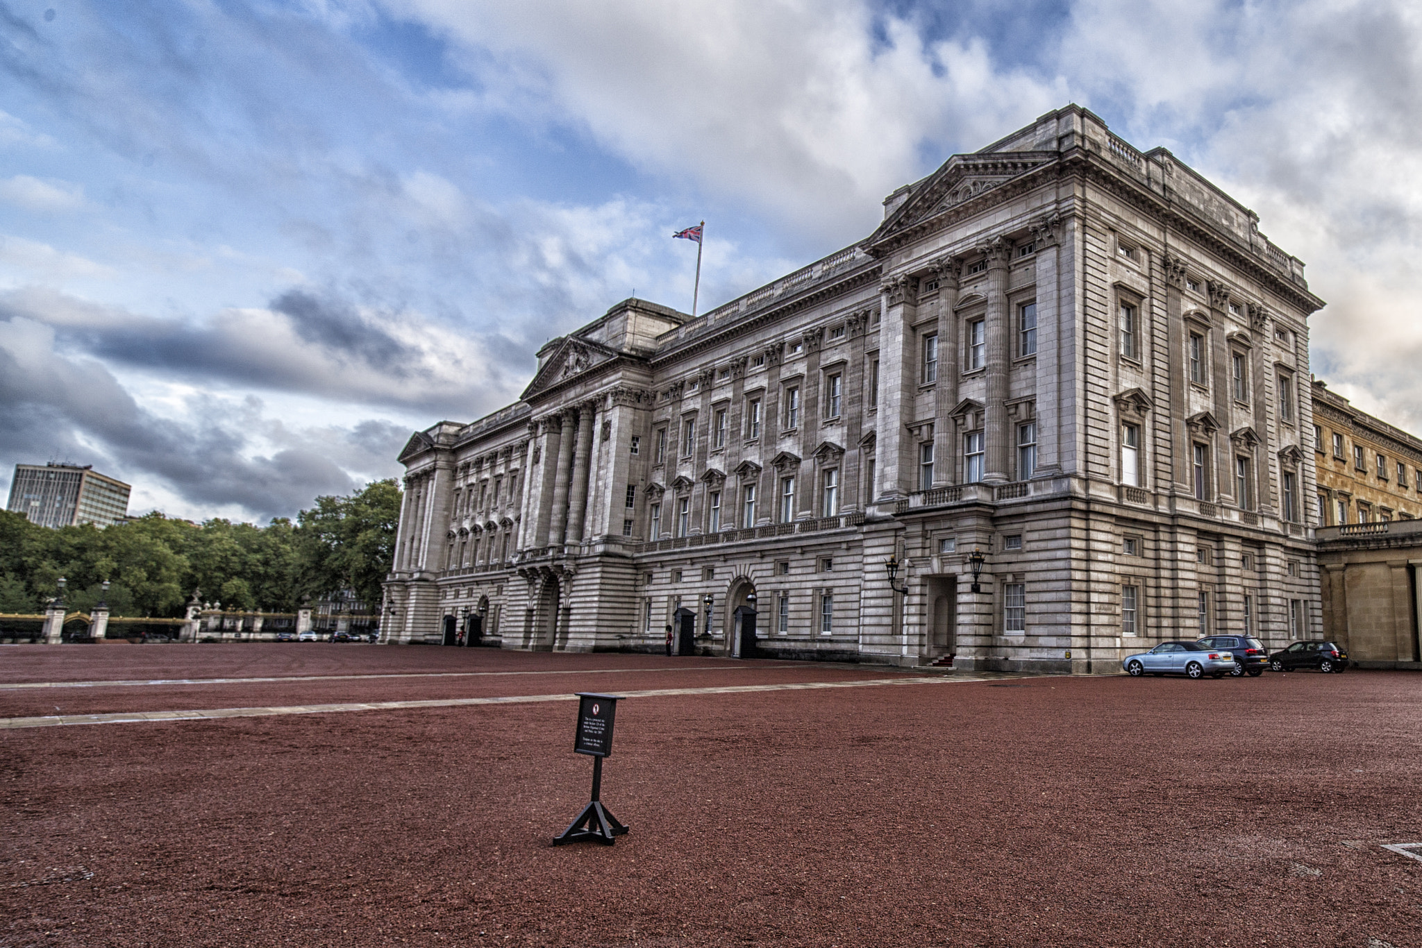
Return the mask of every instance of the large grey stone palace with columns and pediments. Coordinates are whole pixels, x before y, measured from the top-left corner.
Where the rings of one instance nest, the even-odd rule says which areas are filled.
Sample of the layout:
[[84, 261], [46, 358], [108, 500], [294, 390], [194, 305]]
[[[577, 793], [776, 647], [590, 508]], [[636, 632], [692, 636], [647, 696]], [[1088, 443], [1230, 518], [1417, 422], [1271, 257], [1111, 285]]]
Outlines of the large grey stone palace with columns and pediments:
[[1321, 306], [1257, 215], [1069, 105], [411, 436], [385, 638], [1113, 672], [1321, 634]]

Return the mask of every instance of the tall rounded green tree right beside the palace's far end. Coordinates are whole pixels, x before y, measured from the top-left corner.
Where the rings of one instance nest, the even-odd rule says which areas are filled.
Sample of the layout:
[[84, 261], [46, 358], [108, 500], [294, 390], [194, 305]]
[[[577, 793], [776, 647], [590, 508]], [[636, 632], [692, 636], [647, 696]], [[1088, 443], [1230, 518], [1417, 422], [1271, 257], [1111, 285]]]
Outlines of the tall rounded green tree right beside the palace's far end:
[[378, 607], [381, 584], [395, 561], [400, 486], [392, 479], [373, 480], [348, 497], [317, 497], [316, 507], [297, 520], [307, 591], [330, 596], [348, 588]]

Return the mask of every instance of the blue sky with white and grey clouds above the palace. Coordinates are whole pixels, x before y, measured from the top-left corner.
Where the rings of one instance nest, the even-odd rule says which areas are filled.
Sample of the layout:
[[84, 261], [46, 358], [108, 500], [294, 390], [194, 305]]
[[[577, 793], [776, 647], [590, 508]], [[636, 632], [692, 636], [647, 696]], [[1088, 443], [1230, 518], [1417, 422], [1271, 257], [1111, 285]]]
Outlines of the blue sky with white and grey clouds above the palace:
[[1419, 10], [0, 0], [0, 490], [293, 515], [617, 300], [688, 308], [673, 230], [714, 306], [1069, 101], [1254, 208], [1330, 301], [1314, 371], [1422, 431]]

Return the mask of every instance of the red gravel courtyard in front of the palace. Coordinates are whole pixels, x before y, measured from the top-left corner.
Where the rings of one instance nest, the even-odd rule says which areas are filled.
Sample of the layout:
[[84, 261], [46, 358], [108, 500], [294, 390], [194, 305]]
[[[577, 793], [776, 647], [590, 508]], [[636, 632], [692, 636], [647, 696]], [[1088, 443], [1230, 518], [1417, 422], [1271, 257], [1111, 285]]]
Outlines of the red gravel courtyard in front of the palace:
[[[1419, 684], [4, 647], [0, 945], [1422, 945]], [[614, 847], [549, 846], [569, 701], [13, 726], [675, 689], [619, 705]]]

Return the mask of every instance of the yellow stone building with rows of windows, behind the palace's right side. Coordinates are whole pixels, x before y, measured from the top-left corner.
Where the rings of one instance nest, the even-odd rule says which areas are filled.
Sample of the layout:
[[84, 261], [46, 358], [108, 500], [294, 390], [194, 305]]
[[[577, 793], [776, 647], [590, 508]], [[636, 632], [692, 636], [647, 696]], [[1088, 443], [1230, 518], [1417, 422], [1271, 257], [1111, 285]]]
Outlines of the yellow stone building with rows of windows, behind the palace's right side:
[[1318, 526], [1422, 517], [1422, 439], [1314, 379]]

